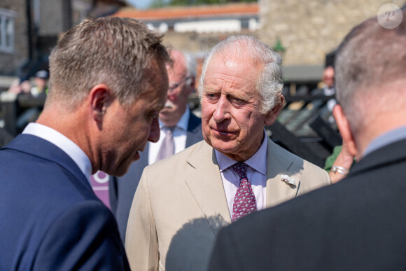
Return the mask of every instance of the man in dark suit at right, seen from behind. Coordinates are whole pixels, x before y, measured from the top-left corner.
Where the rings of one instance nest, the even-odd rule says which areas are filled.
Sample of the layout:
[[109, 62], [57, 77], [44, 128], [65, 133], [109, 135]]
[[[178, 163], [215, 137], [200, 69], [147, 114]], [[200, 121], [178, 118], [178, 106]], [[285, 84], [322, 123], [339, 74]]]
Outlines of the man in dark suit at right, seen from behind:
[[405, 44], [406, 10], [352, 29], [334, 115], [358, 162], [339, 183], [225, 228], [209, 270], [406, 269]]

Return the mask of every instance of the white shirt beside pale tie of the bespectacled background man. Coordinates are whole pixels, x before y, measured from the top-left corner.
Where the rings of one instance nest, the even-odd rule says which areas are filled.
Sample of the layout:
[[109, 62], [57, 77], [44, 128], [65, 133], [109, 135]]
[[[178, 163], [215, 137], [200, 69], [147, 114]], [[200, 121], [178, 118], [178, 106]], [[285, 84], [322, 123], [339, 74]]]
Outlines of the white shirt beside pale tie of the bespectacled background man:
[[[190, 118], [189, 106], [186, 106], [186, 111], [181, 116], [181, 119], [174, 128], [173, 137], [175, 143], [175, 153], [179, 153], [186, 148], [186, 132], [188, 132], [188, 123]], [[158, 142], [149, 142], [148, 165], [153, 164], [157, 160], [158, 152], [166, 136], [165, 125], [160, 121], [160, 140]]]

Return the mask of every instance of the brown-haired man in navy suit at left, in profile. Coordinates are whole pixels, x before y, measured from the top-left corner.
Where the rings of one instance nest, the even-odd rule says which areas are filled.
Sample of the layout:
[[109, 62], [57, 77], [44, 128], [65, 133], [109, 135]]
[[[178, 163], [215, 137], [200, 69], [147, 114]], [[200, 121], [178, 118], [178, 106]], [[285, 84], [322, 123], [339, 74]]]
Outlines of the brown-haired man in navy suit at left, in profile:
[[84, 20], [59, 41], [43, 113], [0, 150], [0, 270], [130, 270], [89, 177], [125, 174], [158, 141], [169, 62], [129, 18]]

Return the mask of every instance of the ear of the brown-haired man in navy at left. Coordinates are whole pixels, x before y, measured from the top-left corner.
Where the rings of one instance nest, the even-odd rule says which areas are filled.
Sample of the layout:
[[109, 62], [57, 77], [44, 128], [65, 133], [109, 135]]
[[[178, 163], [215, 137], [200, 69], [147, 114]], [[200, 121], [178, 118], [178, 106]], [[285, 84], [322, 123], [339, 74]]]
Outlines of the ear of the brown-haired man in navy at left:
[[114, 100], [111, 89], [104, 84], [94, 85], [90, 90], [89, 99], [90, 116], [97, 123], [102, 123], [104, 113]]

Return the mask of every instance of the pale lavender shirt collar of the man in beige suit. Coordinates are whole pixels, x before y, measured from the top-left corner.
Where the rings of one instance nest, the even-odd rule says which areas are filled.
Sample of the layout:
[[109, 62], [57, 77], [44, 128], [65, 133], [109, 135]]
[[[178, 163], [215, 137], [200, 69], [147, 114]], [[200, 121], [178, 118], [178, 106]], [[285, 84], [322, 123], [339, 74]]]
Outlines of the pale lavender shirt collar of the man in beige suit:
[[[267, 134], [264, 129], [264, 140], [262, 141], [262, 144], [258, 151], [254, 153], [254, 155], [251, 156], [251, 158], [248, 158], [248, 160], [245, 161], [246, 165], [252, 167], [255, 169], [255, 171], [260, 172], [260, 174], [265, 175], [267, 174]], [[228, 167], [231, 167], [234, 165], [237, 161], [228, 157], [224, 153], [221, 153], [220, 151], [214, 150], [216, 153], [216, 158], [218, 162], [218, 167], [220, 168], [220, 172], [223, 172], [223, 170], [228, 169]]]

